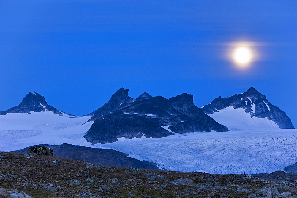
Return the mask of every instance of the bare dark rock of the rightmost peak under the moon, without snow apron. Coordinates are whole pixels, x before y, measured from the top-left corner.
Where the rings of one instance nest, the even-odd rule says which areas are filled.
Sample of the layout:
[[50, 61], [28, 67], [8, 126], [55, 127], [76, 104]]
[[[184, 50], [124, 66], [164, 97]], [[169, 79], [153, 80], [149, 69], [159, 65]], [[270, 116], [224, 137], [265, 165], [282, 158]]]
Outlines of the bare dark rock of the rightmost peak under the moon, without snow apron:
[[[205, 105], [201, 110], [209, 115], [221, 114], [220, 110], [231, 107], [232, 109], [243, 108], [251, 118], [267, 118], [275, 122], [279, 128], [293, 129], [291, 119], [277, 106], [272, 105], [265, 95], [258, 92], [254, 87], [250, 87], [246, 92], [235, 94], [228, 98], [215, 98], [210, 104]], [[230, 111], [228, 110], [228, 111]], [[222, 123], [223, 124], [223, 123]]]

